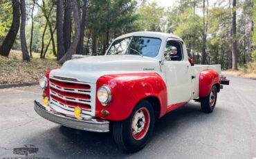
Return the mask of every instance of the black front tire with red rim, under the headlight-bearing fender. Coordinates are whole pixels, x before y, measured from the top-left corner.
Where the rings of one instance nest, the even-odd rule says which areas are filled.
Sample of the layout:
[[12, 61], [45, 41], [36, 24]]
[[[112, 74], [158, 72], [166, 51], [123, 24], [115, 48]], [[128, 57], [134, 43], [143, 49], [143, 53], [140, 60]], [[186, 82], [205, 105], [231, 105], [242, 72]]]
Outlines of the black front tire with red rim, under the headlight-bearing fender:
[[113, 122], [113, 138], [120, 149], [134, 153], [143, 149], [149, 141], [154, 122], [152, 104], [147, 100], [141, 100], [136, 104], [129, 118]]

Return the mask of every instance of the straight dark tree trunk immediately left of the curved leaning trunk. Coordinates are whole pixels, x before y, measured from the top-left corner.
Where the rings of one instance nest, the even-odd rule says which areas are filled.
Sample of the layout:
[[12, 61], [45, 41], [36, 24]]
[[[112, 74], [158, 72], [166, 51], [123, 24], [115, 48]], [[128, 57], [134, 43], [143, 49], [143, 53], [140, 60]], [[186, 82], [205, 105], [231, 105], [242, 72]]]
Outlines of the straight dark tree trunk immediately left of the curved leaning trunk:
[[66, 0], [64, 8], [64, 22], [63, 22], [63, 38], [65, 52], [68, 50], [71, 44], [71, 13], [72, 13], [72, 1]]

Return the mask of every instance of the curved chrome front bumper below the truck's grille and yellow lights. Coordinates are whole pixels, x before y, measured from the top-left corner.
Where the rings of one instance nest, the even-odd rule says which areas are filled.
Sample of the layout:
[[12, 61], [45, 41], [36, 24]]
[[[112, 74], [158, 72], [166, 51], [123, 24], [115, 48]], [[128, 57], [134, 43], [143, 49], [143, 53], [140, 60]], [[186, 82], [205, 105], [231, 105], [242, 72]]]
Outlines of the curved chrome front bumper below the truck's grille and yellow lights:
[[71, 127], [74, 129], [80, 129], [85, 131], [94, 131], [100, 133], [109, 132], [109, 122], [106, 120], [98, 122], [95, 119], [77, 120], [74, 118], [68, 118], [64, 115], [60, 115], [51, 111], [46, 111], [44, 106], [37, 102], [37, 100], [34, 101], [34, 104], [35, 112], [37, 112], [38, 115], [42, 116], [42, 118], [45, 118], [46, 120], [49, 120], [51, 122], [62, 124], [65, 127]]

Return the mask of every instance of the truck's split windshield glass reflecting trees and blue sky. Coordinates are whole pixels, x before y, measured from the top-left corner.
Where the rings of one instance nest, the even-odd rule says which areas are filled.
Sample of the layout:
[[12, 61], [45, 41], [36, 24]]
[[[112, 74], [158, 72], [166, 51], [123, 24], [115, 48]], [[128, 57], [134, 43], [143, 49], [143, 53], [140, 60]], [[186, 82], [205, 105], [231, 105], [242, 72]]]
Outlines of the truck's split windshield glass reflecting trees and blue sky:
[[107, 55], [143, 55], [156, 57], [161, 39], [152, 37], [127, 37], [113, 42]]

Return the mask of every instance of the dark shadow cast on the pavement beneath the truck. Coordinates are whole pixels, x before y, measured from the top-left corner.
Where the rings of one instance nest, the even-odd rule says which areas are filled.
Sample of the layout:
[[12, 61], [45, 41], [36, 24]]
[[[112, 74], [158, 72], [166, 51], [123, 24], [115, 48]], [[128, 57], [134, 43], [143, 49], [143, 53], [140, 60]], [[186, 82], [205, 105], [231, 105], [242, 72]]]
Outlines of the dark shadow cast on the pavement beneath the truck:
[[[93, 133], [63, 126], [42, 132], [44, 140], [40, 144], [45, 144], [48, 149], [51, 149], [48, 152], [50, 158], [138, 158], [138, 156], [146, 158], [143, 154], [157, 148], [159, 141], [165, 140], [166, 135], [169, 135], [168, 140], [172, 140], [176, 138], [177, 129], [186, 131], [189, 129], [188, 126], [194, 122], [199, 122], [199, 124], [210, 122], [211, 116], [214, 118], [214, 114], [221, 110], [218, 108], [214, 111], [216, 112], [210, 114], [202, 113], [200, 104], [192, 102], [168, 113], [156, 122], [154, 135], [149, 142], [150, 146], [133, 154], [120, 151], [111, 133]], [[47, 151], [47, 149], [42, 151]]]

